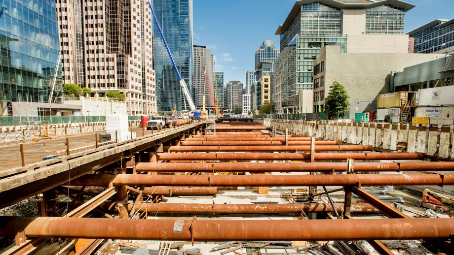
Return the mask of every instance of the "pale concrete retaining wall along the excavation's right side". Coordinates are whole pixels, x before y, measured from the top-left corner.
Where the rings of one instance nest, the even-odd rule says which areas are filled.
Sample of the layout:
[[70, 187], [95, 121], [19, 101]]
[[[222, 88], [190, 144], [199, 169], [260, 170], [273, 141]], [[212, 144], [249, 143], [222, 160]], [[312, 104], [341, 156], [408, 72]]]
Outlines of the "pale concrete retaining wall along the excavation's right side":
[[291, 121], [254, 119], [254, 122], [275, 127], [290, 134], [305, 134], [346, 143], [372, 145], [376, 148], [421, 152], [428, 156], [454, 159], [454, 126], [422, 126], [411, 124], [335, 123], [326, 121]]

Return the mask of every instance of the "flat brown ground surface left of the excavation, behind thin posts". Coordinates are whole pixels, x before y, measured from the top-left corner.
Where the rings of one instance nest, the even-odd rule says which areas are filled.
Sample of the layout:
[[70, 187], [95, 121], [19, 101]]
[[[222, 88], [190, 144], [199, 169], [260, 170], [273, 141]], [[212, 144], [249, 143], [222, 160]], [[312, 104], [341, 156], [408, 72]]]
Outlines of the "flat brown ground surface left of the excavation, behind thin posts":
[[[133, 132], [136, 132], [137, 137], [142, 136], [141, 127], [133, 127]], [[95, 134], [106, 133], [106, 130], [95, 131], [82, 134], [54, 136], [54, 137], [40, 137], [36, 142], [24, 143], [25, 164], [30, 164], [42, 160], [42, 157], [49, 155], [56, 155], [56, 151], [66, 151], [66, 137], [70, 138], [70, 149], [94, 145]], [[153, 134], [158, 133], [158, 130], [153, 130]], [[146, 130], [145, 135], [151, 134], [151, 130]], [[115, 139], [113, 137], [113, 139]], [[19, 143], [1, 145], [0, 152], [0, 170], [10, 169], [21, 166], [21, 155], [19, 150]]]

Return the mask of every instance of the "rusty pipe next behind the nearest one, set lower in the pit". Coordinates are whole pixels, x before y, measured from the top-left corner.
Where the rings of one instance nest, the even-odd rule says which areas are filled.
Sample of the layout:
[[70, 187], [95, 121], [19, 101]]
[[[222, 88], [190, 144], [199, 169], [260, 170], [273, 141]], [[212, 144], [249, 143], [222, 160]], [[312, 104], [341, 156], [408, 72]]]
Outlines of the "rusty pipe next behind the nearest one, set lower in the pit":
[[[390, 204], [393, 206], [392, 204]], [[337, 203], [338, 212], [343, 210], [343, 203]], [[132, 207], [132, 204], [131, 206]], [[188, 213], [188, 214], [281, 214], [299, 213], [328, 213], [333, 212], [331, 204], [171, 204], [171, 203], [139, 203], [142, 210], [149, 213]], [[380, 211], [369, 203], [352, 203], [352, 213], [379, 213]]]

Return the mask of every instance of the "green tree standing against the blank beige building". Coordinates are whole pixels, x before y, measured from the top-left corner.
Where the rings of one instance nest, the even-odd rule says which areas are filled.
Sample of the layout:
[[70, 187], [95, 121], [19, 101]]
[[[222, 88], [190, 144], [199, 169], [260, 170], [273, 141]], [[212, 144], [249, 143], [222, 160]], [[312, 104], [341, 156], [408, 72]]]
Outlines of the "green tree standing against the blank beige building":
[[343, 117], [350, 111], [350, 101], [345, 88], [337, 81], [330, 86], [330, 95], [325, 98], [324, 112], [329, 116]]

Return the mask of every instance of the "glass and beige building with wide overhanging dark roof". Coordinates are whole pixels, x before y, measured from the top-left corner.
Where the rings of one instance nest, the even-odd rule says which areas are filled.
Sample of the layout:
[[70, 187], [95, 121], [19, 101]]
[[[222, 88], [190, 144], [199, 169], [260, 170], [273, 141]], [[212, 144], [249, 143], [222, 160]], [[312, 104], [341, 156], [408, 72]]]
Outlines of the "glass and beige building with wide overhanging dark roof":
[[340, 52], [349, 53], [408, 53], [404, 16], [415, 5], [389, 2], [296, 1], [276, 31], [281, 36], [280, 55], [274, 62], [275, 76], [282, 74], [280, 113], [312, 112], [312, 100], [300, 101], [306, 97], [298, 95], [312, 90], [313, 60], [325, 45], [340, 45]]

